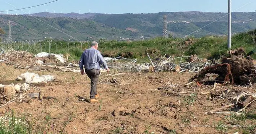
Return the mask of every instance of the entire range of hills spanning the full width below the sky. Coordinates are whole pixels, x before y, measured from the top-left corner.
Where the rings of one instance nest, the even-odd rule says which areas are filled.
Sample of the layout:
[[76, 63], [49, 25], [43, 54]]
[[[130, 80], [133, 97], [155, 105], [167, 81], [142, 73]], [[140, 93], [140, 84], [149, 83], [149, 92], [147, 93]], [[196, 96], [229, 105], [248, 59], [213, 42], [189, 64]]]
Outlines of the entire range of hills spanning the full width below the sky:
[[[186, 35], [194, 37], [223, 36], [227, 34], [227, 13], [198, 11], [146, 14], [42, 12], [31, 15], [1, 15], [0, 27], [8, 31], [7, 24], [10, 20], [13, 39], [16, 40], [33, 39], [34, 37], [37, 39], [43, 37], [70, 39], [71, 37], [66, 34], [79, 40], [99, 39], [100, 37], [110, 40], [129, 40], [129, 38], [136, 40], [141, 36], [144, 38], [162, 36], [163, 15], [167, 15], [168, 32], [174, 37]], [[255, 29], [255, 17], [256, 12], [232, 13], [233, 34]], [[7, 35], [8, 32], [5, 34], [5, 38]]]

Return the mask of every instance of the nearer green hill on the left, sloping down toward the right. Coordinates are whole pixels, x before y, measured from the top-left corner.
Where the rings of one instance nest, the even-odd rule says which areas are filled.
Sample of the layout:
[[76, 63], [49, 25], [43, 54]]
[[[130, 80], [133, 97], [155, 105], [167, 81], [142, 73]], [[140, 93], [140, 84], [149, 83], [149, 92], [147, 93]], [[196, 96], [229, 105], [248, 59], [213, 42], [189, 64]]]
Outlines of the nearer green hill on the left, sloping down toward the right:
[[[100, 37], [126, 36], [119, 29], [89, 19], [2, 15], [0, 16], [0, 27], [8, 31], [9, 21], [11, 21], [12, 38], [14, 40], [44, 39], [45, 37], [57, 39], [61, 37], [64, 40], [72, 40], [72, 37], [75, 37], [78, 40], [90, 40], [92, 38], [99, 39]], [[7, 36], [8, 32], [4, 35], [4, 38], [7, 38]]]

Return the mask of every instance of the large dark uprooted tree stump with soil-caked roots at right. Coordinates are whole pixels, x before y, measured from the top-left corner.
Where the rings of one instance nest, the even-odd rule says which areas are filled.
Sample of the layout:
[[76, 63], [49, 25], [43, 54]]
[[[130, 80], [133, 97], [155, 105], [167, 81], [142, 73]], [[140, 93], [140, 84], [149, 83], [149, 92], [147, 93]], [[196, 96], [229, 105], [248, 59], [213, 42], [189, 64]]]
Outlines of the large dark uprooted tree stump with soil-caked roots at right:
[[245, 82], [256, 82], [256, 62], [247, 57], [243, 48], [228, 51], [228, 57], [222, 57], [221, 64], [207, 66], [190, 81], [205, 82], [206, 74], [218, 74], [212, 82], [230, 82], [232, 84], [244, 84]]

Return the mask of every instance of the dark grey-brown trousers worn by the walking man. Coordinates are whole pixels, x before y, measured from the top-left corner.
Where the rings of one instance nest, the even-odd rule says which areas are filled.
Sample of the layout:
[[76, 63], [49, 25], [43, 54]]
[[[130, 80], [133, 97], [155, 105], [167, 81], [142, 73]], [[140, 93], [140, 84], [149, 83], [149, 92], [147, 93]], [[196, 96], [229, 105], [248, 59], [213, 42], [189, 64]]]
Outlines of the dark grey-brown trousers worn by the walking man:
[[100, 71], [97, 69], [85, 70], [87, 76], [91, 79], [90, 98], [95, 98], [97, 94], [97, 82], [99, 80]]

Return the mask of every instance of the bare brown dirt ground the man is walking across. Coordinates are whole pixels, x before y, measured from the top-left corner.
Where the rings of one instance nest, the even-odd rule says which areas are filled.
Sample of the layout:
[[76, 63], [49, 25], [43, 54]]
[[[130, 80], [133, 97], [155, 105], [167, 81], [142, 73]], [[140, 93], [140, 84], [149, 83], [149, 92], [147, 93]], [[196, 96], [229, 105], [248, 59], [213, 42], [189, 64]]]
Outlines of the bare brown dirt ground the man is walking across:
[[[0, 65], [0, 84], [11, 84], [25, 69]], [[183, 87], [195, 73], [102, 73], [97, 90], [100, 103], [88, 102], [90, 80], [84, 75], [60, 71], [29, 71], [50, 74], [55, 82], [38, 85], [45, 96], [26, 102], [10, 103], [0, 108], [0, 116], [14, 110], [25, 116], [35, 129], [44, 134], [254, 134], [256, 132], [256, 101], [242, 115], [205, 114], [230, 104], [233, 97], [243, 91], [255, 93], [255, 85], [218, 86], [216, 92], [203, 95], [213, 86]], [[117, 83], [113, 81], [114, 78]], [[107, 82], [112, 82], [106, 84]], [[163, 87], [163, 88], [159, 88]], [[168, 88], [165, 88], [168, 87]], [[208, 88], [206, 88], [208, 87]], [[230, 89], [227, 97], [215, 98]], [[118, 92], [119, 91], [119, 92]], [[29, 92], [38, 92], [31, 89]], [[196, 95], [193, 95], [193, 93]], [[209, 98], [211, 97], [211, 99]], [[86, 98], [85, 101], [81, 100]], [[79, 100], [80, 99], [80, 100]], [[2, 105], [2, 104], [1, 104]], [[245, 126], [222, 126], [240, 124]], [[194, 126], [192, 126], [194, 125]], [[201, 126], [203, 125], [203, 126]], [[206, 126], [207, 125], [207, 126]], [[63, 129], [64, 128], [64, 129]]]

